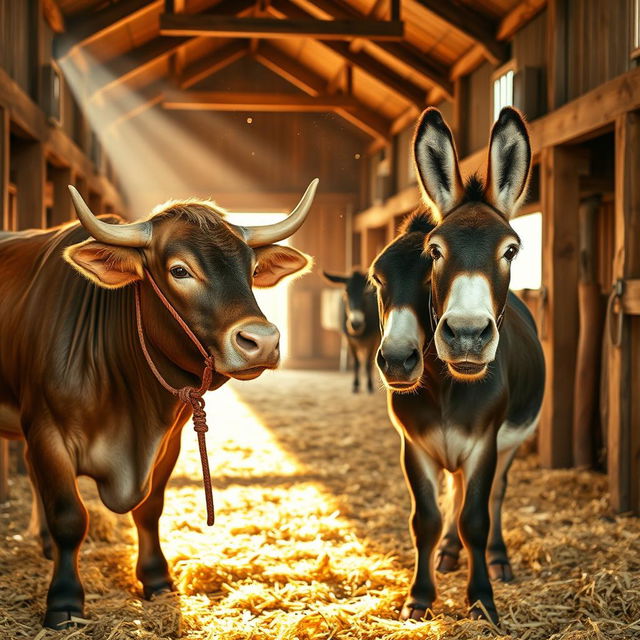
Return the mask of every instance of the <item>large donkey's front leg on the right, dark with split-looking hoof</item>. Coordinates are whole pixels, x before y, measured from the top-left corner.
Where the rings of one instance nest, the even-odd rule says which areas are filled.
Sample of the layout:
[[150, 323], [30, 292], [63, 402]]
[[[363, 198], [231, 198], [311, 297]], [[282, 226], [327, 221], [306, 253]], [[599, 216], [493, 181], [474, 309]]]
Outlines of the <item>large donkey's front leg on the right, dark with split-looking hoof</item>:
[[487, 435], [484, 442], [477, 445], [482, 448], [474, 451], [463, 465], [466, 491], [460, 513], [459, 531], [469, 556], [467, 599], [471, 607], [471, 617], [486, 618], [488, 614], [497, 624], [498, 612], [493, 601], [493, 589], [485, 555], [491, 526], [489, 498], [496, 469], [496, 439], [495, 436]]

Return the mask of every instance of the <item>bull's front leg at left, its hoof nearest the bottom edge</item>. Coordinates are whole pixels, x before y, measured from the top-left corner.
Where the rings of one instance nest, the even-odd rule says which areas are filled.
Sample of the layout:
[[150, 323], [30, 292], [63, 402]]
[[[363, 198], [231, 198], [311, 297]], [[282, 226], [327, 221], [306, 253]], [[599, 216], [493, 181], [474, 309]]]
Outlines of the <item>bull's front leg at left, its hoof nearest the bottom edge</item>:
[[84, 617], [84, 589], [78, 575], [78, 551], [89, 518], [78, 493], [76, 470], [62, 436], [49, 421], [29, 425], [27, 443], [37, 489], [53, 541], [53, 576], [44, 626], [63, 629]]

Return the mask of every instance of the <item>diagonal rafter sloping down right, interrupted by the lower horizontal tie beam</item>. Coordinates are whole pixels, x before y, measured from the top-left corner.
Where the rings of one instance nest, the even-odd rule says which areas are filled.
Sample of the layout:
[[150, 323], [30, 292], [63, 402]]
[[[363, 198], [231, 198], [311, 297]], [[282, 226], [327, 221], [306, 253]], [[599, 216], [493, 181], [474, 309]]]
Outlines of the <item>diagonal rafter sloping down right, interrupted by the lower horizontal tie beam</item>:
[[[255, 58], [262, 65], [310, 96], [318, 96], [328, 92], [328, 84], [324, 78], [269, 43], [260, 44]], [[387, 140], [390, 136], [390, 123], [362, 104], [356, 104], [352, 108], [337, 107], [334, 111], [375, 140]]]

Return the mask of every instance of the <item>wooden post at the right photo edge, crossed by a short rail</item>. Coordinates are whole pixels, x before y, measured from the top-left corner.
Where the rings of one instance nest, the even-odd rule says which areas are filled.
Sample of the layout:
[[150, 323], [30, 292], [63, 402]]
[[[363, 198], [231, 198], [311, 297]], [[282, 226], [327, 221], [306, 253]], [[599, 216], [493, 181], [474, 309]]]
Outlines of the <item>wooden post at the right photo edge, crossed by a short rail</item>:
[[[640, 116], [616, 119], [614, 282], [640, 278]], [[616, 325], [616, 319], [609, 318]], [[640, 317], [623, 316], [619, 345], [607, 343], [607, 468], [616, 511], [640, 512]]]

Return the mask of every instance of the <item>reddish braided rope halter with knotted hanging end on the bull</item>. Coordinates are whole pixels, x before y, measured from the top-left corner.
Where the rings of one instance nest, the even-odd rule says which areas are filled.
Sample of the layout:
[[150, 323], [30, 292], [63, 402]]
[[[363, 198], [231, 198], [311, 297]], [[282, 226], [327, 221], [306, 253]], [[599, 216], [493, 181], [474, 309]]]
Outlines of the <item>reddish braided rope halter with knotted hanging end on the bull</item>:
[[142, 310], [140, 306], [140, 283], [136, 283], [135, 287], [135, 299], [136, 299], [136, 324], [138, 327], [138, 337], [140, 338], [140, 346], [142, 347], [142, 353], [147, 360], [147, 364], [151, 369], [151, 372], [155, 376], [156, 380], [171, 394], [180, 398], [185, 404], [190, 404], [193, 411], [193, 430], [198, 434], [198, 448], [200, 449], [200, 462], [202, 463], [202, 483], [204, 485], [204, 497], [207, 503], [207, 525], [211, 526], [215, 522], [215, 508], [213, 504], [213, 493], [211, 491], [211, 473], [209, 472], [209, 458], [207, 457], [207, 441], [205, 434], [209, 430], [207, 426], [207, 415], [204, 412], [204, 393], [211, 386], [211, 380], [213, 372], [215, 370], [213, 356], [210, 355], [207, 350], [202, 346], [202, 343], [196, 335], [188, 327], [187, 323], [182, 319], [180, 314], [176, 311], [175, 307], [169, 302], [164, 293], [160, 290], [160, 287], [156, 284], [151, 274], [145, 269], [145, 275], [147, 276], [153, 290], [167, 308], [169, 313], [174, 317], [175, 321], [180, 325], [180, 328], [187, 334], [191, 342], [198, 347], [198, 351], [204, 358], [204, 371], [202, 372], [202, 384], [199, 389], [195, 387], [183, 387], [182, 389], [176, 389], [171, 386], [163, 377], [155, 363], [151, 359], [151, 354], [147, 349], [147, 343], [144, 338], [144, 331], [142, 329]]

